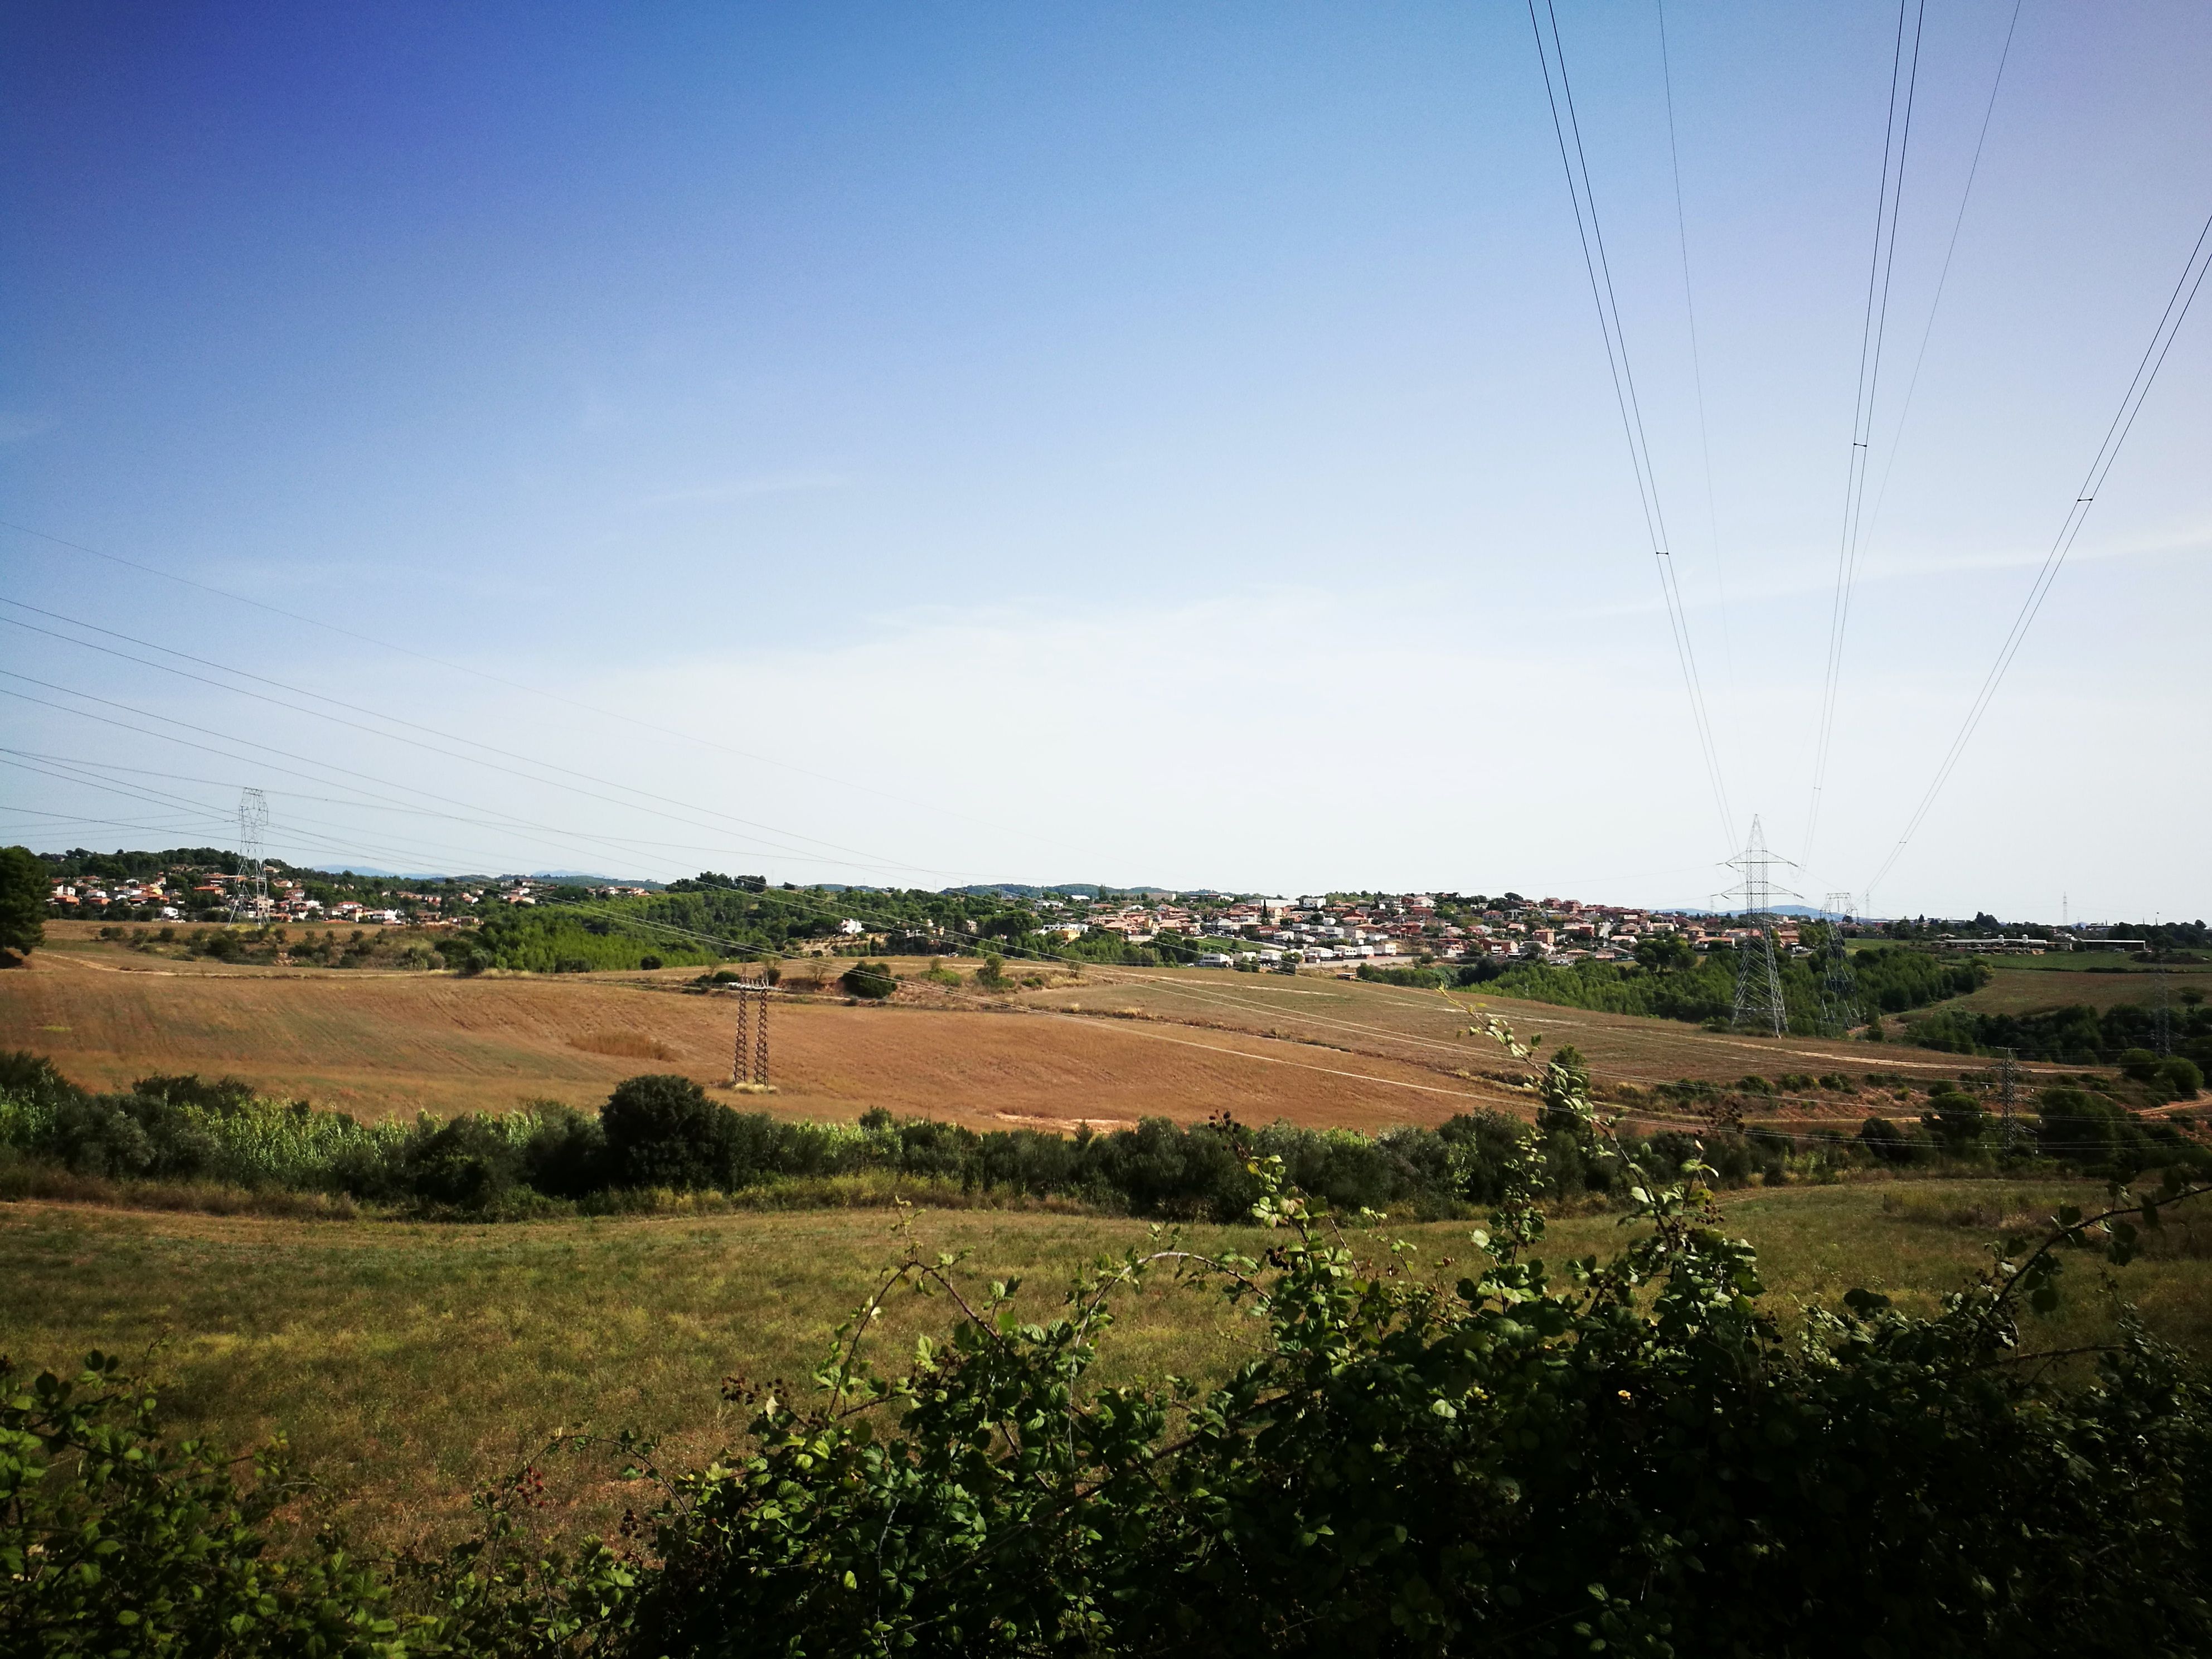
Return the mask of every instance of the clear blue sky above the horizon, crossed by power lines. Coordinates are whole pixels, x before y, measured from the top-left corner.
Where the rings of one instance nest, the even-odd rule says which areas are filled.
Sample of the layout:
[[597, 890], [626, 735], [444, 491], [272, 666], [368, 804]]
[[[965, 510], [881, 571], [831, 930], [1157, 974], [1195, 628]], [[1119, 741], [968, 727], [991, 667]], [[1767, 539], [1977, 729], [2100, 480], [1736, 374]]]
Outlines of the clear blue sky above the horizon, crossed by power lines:
[[[1896, 7], [1668, 7], [1681, 226], [1657, 9], [1559, 9], [1723, 827], [1524, 9], [11, 4], [0, 520], [204, 586], [0, 531], [0, 834], [1865, 891], [2212, 212], [2212, 9], [2026, 0], [1960, 221], [2011, 18], [1807, 858]], [[2212, 914], [2208, 546], [2212, 299], [1874, 911]]]

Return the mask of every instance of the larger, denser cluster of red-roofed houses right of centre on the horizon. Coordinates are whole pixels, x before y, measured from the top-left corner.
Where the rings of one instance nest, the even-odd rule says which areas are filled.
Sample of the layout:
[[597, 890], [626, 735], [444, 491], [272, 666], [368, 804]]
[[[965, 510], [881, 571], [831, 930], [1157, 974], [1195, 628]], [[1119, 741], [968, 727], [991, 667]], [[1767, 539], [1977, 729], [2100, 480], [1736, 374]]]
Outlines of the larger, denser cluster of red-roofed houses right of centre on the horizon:
[[[1371, 898], [1148, 896], [1144, 902], [1040, 898], [1042, 931], [1079, 938], [1117, 933], [1130, 945], [1161, 936], [1219, 942], [1201, 967], [1296, 967], [1298, 962], [1473, 962], [1524, 958], [1562, 967], [1632, 960], [1646, 938], [1681, 938], [1692, 949], [1752, 938], [1728, 918], [1584, 905], [1573, 898], [1467, 900], [1460, 894]], [[1783, 922], [1776, 942], [1803, 953], [1798, 929]]]

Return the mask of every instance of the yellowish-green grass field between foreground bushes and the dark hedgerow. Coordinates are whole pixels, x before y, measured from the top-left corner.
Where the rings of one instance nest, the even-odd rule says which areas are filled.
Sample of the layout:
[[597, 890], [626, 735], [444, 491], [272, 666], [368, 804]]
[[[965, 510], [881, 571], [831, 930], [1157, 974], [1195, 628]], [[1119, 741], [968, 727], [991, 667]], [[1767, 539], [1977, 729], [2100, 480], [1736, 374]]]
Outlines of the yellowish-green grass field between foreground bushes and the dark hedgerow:
[[[1986, 1241], [2046, 1214], [2066, 1188], [1887, 1181], [1730, 1194], [1730, 1225], [1763, 1252], [1778, 1314], [1849, 1285], [1931, 1310], [1986, 1263]], [[2090, 1201], [2101, 1188], [2077, 1186]], [[980, 1279], [1024, 1276], [1046, 1310], [1077, 1265], [1146, 1239], [1146, 1225], [1037, 1212], [922, 1212], [931, 1248], [969, 1250]], [[1391, 1230], [1458, 1276], [1464, 1225]], [[1553, 1223], [1546, 1254], [1619, 1243], [1613, 1217]], [[1250, 1230], [1201, 1245], [1263, 1248]], [[728, 1374], [807, 1387], [836, 1323], [898, 1256], [885, 1212], [602, 1219], [531, 1225], [407, 1225], [0, 1206], [0, 1352], [69, 1365], [88, 1347], [166, 1380], [177, 1429], [232, 1444], [285, 1433], [325, 1482], [312, 1509], [356, 1535], [405, 1544], [467, 1524], [478, 1482], [515, 1469], [568, 1427], [666, 1436], [668, 1460], [703, 1460], [741, 1429]], [[1444, 1265], [1460, 1259], [1462, 1265]], [[2177, 1225], [2115, 1274], [2170, 1338], [2212, 1352], [2212, 1214]], [[896, 1367], [942, 1303], [900, 1301], [883, 1321]], [[2110, 1325], [2099, 1272], [2079, 1267], [2037, 1345]], [[1155, 1287], [1133, 1305], [1102, 1378], [1219, 1374], [1252, 1325], [1199, 1290]], [[604, 1528], [635, 1491], [611, 1464], [549, 1469], [551, 1522]]]

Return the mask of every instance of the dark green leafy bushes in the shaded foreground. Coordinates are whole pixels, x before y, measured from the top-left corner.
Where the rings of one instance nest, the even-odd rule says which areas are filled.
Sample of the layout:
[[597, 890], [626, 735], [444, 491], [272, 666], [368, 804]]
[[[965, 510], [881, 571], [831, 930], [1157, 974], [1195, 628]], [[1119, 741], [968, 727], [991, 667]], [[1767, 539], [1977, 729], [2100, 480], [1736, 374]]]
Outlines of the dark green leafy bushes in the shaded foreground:
[[[1641, 1166], [1564, 1057], [1544, 1110], [1548, 1137], [1624, 1170], [1626, 1248], [1546, 1263], [1537, 1197], [1559, 1181], [1535, 1130], [1458, 1276], [1356, 1243], [1265, 1157], [1265, 1248], [1146, 1241], [1057, 1314], [916, 1243], [812, 1398], [734, 1383], [741, 1431], [703, 1467], [622, 1447], [644, 1513], [573, 1553], [531, 1537], [535, 1473], [447, 1555], [272, 1548], [299, 1495], [281, 1460], [234, 1484], [212, 1449], [164, 1444], [106, 1360], [15, 1380], [0, 1635], [624, 1655], [2212, 1641], [2205, 1374], [2128, 1314], [2090, 1343], [2044, 1325], [2068, 1256], [2128, 1267], [2203, 1186], [2062, 1208], [1933, 1312], [1860, 1287], [1792, 1318], [1710, 1170]], [[1161, 1281], [1245, 1332], [1223, 1374], [1108, 1369], [1115, 1318]], [[942, 1325], [889, 1367], [878, 1314], [914, 1290]]]

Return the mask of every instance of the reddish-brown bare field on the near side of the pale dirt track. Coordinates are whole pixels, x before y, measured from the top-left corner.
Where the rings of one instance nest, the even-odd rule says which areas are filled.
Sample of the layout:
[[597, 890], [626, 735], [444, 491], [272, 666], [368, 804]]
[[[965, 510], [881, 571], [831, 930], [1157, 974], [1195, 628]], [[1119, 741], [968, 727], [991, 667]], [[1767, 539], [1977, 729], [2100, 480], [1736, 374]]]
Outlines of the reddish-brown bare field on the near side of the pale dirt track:
[[[591, 1106], [639, 1071], [728, 1079], [734, 1004], [686, 995], [684, 978], [458, 980], [146, 967], [122, 951], [40, 951], [27, 969], [0, 975], [0, 1046], [51, 1055], [88, 1086], [155, 1071], [226, 1073], [358, 1117], [500, 1110], [526, 1099]], [[991, 1011], [958, 995], [945, 1002], [779, 1000], [776, 1093], [752, 1099], [796, 1117], [885, 1106], [975, 1128], [1190, 1121], [1219, 1110], [1380, 1128], [1513, 1099], [1418, 1060], [1124, 1018]]]

